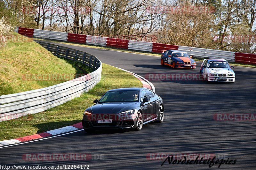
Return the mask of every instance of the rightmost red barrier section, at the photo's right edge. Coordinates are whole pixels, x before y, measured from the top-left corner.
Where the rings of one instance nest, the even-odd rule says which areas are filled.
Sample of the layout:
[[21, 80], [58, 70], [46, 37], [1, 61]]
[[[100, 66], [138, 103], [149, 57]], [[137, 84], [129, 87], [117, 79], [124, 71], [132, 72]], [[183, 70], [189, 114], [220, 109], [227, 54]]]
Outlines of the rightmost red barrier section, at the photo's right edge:
[[235, 53], [235, 61], [236, 63], [256, 65], [256, 54]]

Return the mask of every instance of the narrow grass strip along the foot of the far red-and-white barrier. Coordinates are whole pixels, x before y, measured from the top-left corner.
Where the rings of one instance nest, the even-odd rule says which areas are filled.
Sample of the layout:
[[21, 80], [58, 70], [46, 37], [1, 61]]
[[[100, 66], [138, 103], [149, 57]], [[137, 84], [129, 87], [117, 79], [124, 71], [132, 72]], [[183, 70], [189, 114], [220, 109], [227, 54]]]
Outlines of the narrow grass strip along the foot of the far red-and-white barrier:
[[[43, 39], [37, 39], [37, 40], [43, 40]], [[43, 41], [45, 41], [45, 40], [43, 40]], [[52, 40], [47, 40], [47, 41], [58, 42], [58, 43], [63, 43], [63, 44], [70, 44], [70, 45], [79, 45], [79, 46], [84, 46], [84, 47], [115, 50], [115, 51], [128, 52], [128, 53], [143, 54], [143, 55], [153, 55], [153, 56], [161, 57], [161, 54], [159, 54], [159, 53], [153, 53], [153, 52], [147, 52], [147, 51], [141, 52], [139, 50], [130, 50], [130, 49], [123, 49], [123, 48], [115, 48], [115, 47], [97, 46], [97, 45], [92, 45], [92, 44], [82, 44], [82, 43], [67, 42], [67, 41], [52, 41]], [[193, 57], [193, 59], [195, 61], [203, 61], [204, 60], [202, 58], [197, 58], [197, 57]], [[256, 65], [240, 64], [240, 63], [234, 63], [234, 62], [229, 62], [229, 63], [230, 63], [230, 65], [234, 65], [234, 66], [256, 68]]]

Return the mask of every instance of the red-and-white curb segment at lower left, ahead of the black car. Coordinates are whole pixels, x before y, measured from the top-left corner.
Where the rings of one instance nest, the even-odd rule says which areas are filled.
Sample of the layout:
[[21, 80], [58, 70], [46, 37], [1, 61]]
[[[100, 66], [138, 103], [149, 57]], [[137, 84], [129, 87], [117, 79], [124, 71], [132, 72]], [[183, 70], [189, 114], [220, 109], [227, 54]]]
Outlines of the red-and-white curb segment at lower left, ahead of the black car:
[[39, 133], [39, 134], [34, 134], [34, 135], [30, 135], [30, 136], [25, 136], [25, 137], [19, 137], [19, 138], [16, 138], [16, 139], [3, 140], [3, 141], [0, 141], [0, 147], [5, 146], [5, 145], [9, 145], [9, 144], [17, 144], [17, 143], [20, 143], [20, 142], [26, 142], [26, 141], [30, 141], [30, 140], [34, 140], [34, 139], [40, 139], [40, 138], [43, 138], [43, 137], [52, 137], [54, 135], [59, 135], [59, 134], [62, 134], [62, 133], [67, 133], [67, 132], [79, 130], [79, 129], [82, 129], [82, 128], [83, 128], [83, 125], [82, 125], [82, 122], [80, 122], [80, 123], [76, 123], [76, 124], [66, 126], [66, 127], [63, 127], [63, 128], [49, 130], [47, 132], [42, 132], [42, 133]]

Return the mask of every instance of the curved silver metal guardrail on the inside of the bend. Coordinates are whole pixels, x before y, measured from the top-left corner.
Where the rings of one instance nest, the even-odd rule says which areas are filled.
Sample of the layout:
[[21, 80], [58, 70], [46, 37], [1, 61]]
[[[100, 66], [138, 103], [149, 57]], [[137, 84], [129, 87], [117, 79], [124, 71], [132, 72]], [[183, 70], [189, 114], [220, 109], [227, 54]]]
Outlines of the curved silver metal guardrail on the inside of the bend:
[[94, 71], [57, 85], [0, 96], [0, 122], [58, 106], [87, 92], [100, 81], [102, 63], [97, 57], [45, 42], [39, 42], [39, 44], [54, 55], [84, 63]]

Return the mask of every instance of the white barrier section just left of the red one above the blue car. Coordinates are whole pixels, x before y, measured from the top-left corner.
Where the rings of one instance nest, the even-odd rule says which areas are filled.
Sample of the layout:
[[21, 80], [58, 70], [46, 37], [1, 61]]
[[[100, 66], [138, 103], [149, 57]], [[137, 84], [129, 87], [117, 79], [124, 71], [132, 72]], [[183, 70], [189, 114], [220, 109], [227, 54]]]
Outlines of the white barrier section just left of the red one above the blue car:
[[128, 49], [152, 51], [152, 42], [129, 40]]

